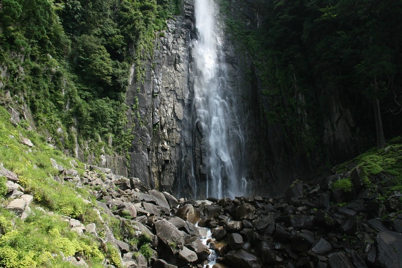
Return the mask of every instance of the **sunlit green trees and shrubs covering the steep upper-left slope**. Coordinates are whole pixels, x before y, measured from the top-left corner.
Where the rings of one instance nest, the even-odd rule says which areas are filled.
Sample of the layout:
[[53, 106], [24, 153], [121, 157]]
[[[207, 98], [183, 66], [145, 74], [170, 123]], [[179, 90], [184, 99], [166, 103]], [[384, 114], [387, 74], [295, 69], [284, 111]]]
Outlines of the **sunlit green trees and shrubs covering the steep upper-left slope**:
[[129, 68], [135, 64], [141, 83], [155, 34], [179, 7], [179, 0], [3, 1], [2, 105], [26, 102], [38, 130], [70, 153], [76, 138], [88, 143], [86, 157], [127, 151]]

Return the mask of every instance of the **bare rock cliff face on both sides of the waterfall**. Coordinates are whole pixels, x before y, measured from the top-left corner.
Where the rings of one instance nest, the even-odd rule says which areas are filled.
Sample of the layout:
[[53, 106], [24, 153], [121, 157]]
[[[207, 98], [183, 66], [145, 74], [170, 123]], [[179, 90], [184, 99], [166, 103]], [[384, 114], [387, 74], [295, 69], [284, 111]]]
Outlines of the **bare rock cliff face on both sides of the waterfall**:
[[[257, 29], [265, 16], [262, 4], [231, 1], [230, 10], [233, 18], [242, 20], [249, 29]], [[129, 176], [141, 178], [151, 188], [196, 198], [196, 188], [205, 187], [207, 160], [202, 129], [195, 126], [188, 130], [193, 116], [193, 13], [193, 1], [184, 1], [182, 14], [170, 20], [155, 41], [145, 81], [130, 83], [127, 104], [132, 108], [129, 117], [133, 119], [135, 135]], [[317, 166], [333, 164], [356, 153], [358, 128], [336, 88], [328, 103], [330, 112], [316, 115], [306, 109], [305, 96], [294, 82], [290, 91], [297, 109], [290, 116], [296, 122], [290, 127], [283, 121], [273, 122], [268, 116], [272, 106], [286, 106], [292, 100], [287, 96], [266, 96], [262, 74], [254, 65], [255, 55], [246, 52], [230, 33], [224, 43], [227, 82], [237, 96], [244, 127], [246, 194], [281, 193], [296, 178], [306, 180], [316, 173]], [[134, 71], [132, 74], [134, 77]], [[314, 117], [320, 118], [319, 126], [309, 125]], [[294, 137], [295, 129], [302, 133], [298, 138]], [[313, 136], [318, 138], [306, 144]], [[188, 156], [188, 148], [194, 157]]]

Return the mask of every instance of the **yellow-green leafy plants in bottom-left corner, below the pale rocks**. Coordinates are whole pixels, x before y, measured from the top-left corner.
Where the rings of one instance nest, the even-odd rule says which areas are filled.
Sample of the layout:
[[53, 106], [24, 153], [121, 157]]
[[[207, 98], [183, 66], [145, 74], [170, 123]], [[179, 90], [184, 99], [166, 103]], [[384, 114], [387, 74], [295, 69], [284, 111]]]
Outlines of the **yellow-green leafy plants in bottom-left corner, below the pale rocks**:
[[[0, 224], [14, 217], [3, 209], [0, 212], [3, 215]], [[94, 266], [104, 260], [95, 241], [79, 237], [59, 216], [49, 216], [35, 209], [34, 212], [25, 222], [17, 220], [13, 229], [7, 227], [0, 239], [0, 264], [3, 267], [70, 267], [61, 256], [51, 255], [60, 251], [66, 256], [85, 257], [87, 263]]]

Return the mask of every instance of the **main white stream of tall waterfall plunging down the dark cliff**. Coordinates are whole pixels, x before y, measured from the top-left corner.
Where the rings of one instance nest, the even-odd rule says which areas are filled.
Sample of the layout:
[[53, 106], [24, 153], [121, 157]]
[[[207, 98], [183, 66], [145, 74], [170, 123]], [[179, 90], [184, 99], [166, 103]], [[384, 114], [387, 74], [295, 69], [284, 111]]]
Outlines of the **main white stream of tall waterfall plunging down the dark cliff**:
[[[207, 165], [203, 184], [206, 189], [194, 191], [198, 197], [234, 198], [246, 192], [245, 145], [237, 100], [228, 83], [223, 31], [217, 20], [218, 7], [213, 0], [195, 0], [194, 12], [197, 34], [191, 48], [193, 101], [190, 125], [193, 129], [202, 129], [201, 146]], [[194, 172], [195, 168], [192, 166], [191, 170]]]

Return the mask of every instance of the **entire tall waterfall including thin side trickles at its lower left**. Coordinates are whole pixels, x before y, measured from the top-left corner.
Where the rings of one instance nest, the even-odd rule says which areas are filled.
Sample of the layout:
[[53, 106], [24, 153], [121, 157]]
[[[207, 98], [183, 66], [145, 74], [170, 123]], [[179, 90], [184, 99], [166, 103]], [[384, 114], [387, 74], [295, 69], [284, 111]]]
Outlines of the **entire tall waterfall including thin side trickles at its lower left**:
[[[223, 26], [212, 0], [195, 0], [195, 29], [190, 37], [187, 96], [183, 122], [182, 180], [191, 198], [242, 196], [247, 191], [245, 141], [238, 100], [228, 84]], [[185, 164], [186, 162], [187, 164]], [[188, 192], [188, 191], [187, 191]]]

